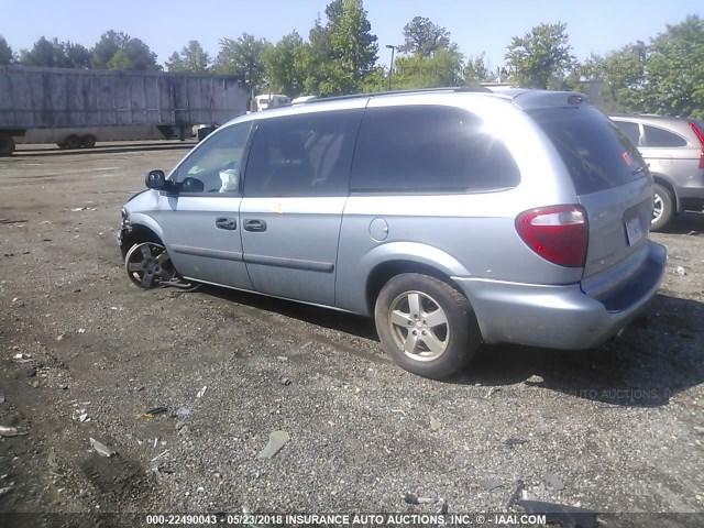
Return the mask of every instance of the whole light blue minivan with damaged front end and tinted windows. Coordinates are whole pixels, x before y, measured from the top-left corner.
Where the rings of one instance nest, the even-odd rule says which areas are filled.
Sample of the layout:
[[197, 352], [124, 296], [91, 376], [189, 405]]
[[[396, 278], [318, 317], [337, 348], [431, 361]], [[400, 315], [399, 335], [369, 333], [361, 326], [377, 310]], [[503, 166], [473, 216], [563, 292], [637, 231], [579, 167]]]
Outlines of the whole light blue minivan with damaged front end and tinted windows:
[[482, 342], [587, 349], [662, 279], [653, 182], [573, 92], [435, 89], [238, 118], [152, 170], [119, 234], [139, 286], [213, 284], [372, 316], [404, 369]]

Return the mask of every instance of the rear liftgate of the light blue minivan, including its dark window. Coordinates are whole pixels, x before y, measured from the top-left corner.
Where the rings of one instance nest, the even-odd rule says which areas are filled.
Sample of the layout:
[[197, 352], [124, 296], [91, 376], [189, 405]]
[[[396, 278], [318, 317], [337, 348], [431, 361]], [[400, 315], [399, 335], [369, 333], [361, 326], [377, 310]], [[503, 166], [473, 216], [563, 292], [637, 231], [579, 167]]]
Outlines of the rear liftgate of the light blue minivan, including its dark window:
[[653, 188], [645, 162], [623, 132], [593, 107], [531, 113], [558, 150], [587, 213], [584, 278], [618, 268], [612, 278], [623, 279], [618, 275], [627, 275], [646, 256], [639, 250], [647, 244]]

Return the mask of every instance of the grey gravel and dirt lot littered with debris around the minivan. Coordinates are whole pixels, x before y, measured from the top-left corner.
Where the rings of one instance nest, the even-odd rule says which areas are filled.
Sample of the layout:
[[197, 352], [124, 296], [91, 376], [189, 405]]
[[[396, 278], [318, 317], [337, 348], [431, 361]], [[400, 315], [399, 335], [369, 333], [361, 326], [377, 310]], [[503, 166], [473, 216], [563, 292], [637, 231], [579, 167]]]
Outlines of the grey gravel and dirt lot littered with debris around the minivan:
[[[618, 341], [486, 346], [439, 383], [392, 364], [365, 319], [133, 286], [120, 207], [190, 146], [0, 158], [0, 425], [26, 432], [0, 437], [0, 512], [521, 513], [522, 498], [692, 514], [606, 526], [704, 525], [704, 216], [652, 234], [667, 278]], [[257, 458], [276, 430], [290, 441]]]

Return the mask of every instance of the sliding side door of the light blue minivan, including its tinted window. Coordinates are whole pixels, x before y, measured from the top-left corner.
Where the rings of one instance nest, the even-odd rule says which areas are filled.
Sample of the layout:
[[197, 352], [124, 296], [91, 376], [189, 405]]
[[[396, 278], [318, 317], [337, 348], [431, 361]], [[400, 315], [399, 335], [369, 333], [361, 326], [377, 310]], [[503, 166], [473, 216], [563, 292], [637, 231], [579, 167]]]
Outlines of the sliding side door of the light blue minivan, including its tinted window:
[[362, 109], [260, 121], [240, 208], [257, 292], [334, 305], [338, 240]]

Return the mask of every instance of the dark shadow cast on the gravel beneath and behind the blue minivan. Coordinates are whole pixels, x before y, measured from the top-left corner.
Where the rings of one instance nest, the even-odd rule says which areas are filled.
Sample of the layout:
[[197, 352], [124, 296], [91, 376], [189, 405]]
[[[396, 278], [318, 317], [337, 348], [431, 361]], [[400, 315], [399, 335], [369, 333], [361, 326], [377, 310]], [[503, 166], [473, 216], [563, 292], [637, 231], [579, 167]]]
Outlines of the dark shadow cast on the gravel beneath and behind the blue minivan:
[[[207, 286], [205, 293], [378, 342], [370, 318]], [[704, 382], [704, 304], [657, 295], [622, 337], [584, 351], [483, 345], [466, 371], [438, 383], [492, 388], [525, 384], [622, 407], [659, 407]], [[385, 355], [381, 349], [380, 354]]]

